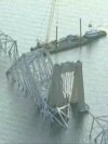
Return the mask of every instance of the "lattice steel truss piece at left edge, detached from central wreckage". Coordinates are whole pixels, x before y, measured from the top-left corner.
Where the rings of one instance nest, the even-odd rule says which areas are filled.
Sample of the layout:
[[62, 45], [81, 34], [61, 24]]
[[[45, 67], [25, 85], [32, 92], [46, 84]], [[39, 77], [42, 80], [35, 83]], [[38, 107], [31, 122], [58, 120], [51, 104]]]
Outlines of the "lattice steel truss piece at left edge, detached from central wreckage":
[[0, 30], [0, 51], [3, 51], [12, 60], [17, 60], [17, 42]]

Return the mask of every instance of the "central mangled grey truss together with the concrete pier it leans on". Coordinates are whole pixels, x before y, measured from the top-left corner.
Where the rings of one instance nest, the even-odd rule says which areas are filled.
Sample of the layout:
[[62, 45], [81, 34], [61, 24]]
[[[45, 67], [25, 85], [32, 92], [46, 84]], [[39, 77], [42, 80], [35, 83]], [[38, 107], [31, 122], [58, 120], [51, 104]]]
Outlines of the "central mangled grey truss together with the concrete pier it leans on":
[[84, 102], [82, 63], [54, 64], [45, 49], [23, 54], [6, 71], [25, 95], [31, 96], [44, 118], [68, 127], [70, 104], [87, 110]]

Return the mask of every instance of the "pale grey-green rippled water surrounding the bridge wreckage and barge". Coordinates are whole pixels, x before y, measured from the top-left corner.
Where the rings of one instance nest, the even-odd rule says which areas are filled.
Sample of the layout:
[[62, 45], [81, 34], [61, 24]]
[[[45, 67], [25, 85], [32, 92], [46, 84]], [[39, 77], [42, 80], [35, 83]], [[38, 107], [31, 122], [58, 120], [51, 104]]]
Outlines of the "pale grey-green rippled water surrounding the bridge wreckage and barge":
[[[1, 0], [0, 29], [18, 41], [19, 52], [27, 52], [36, 39], [44, 40], [49, 18], [50, 0]], [[51, 39], [55, 37], [55, 22], [59, 34], [79, 34], [82, 18], [83, 34], [91, 22], [95, 28], [108, 31], [107, 0], [58, 0], [53, 21]], [[58, 16], [57, 16], [58, 15]], [[43, 24], [44, 22], [44, 24]], [[82, 48], [52, 55], [54, 63], [82, 61], [85, 101], [94, 115], [108, 114], [108, 37]], [[0, 57], [0, 143], [89, 143], [91, 117], [80, 117], [70, 112], [69, 128], [51, 126], [37, 113], [28, 97], [12, 92], [6, 84], [5, 69], [10, 64]], [[17, 96], [16, 96], [17, 95]], [[93, 142], [91, 142], [93, 143]]]

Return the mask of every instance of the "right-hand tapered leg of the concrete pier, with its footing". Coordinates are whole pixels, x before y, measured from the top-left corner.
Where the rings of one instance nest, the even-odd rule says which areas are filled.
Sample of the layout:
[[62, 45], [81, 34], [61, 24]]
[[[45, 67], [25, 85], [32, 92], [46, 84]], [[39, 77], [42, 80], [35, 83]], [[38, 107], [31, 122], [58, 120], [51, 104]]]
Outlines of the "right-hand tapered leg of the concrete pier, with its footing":
[[75, 64], [75, 78], [72, 87], [71, 103], [75, 100], [75, 103], [78, 103], [79, 112], [87, 112], [89, 106], [84, 101], [84, 87], [83, 87], [83, 74], [82, 74], [82, 63], [78, 61]]

